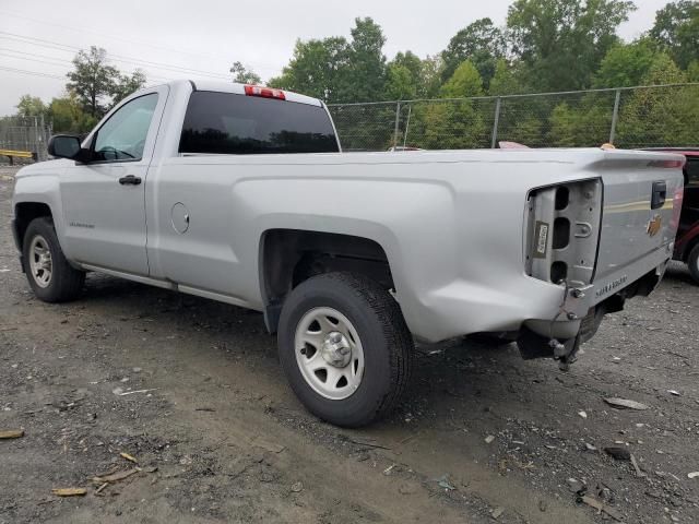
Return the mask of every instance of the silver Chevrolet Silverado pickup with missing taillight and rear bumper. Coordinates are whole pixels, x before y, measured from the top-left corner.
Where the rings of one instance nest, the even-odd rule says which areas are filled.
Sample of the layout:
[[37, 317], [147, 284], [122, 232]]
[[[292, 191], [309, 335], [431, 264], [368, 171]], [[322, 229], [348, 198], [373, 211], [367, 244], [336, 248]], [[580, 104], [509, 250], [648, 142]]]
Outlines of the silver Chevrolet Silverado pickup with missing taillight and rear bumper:
[[589, 150], [343, 154], [322, 102], [181, 81], [143, 90], [16, 175], [38, 298], [95, 271], [262, 311], [294, 392], [360, 426], [414, 337], [517, 341], [567, 367], [673, 253], [684, 157]]

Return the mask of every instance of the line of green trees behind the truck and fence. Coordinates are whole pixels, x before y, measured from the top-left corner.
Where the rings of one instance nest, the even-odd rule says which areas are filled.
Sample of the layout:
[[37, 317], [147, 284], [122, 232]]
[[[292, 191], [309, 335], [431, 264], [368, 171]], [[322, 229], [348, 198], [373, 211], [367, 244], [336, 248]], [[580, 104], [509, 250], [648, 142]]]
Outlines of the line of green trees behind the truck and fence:
[[[633, 41], [623, 41], [618, 27], [635, 10], [635, 3], [628, 0], [516, 0], [503, 26], [487, 17], [476, 20], [435, 56], [420, 58], [405, 50], [391, 60], [383, 52], [386, 36], [379, 24], [370, 17], [358, 17], [348, 38], [297, 40], [288, 64], [266, 84], [328, 104], [343, 104], [698, 82], [699, 2], [667, 3], [657, 11], [649, 31]], [[56, 131], [90, 129], [114, 103], [145, 83], [142, 72], [123, 74], [106, 59], [104, 49], [81, 51], [68, 73], [67, 94], [47, 105], [25, 95], [17, 105], [19, 114], [42, 112], [54, 121]], [[240, 62], [234, 62], [230, 73], [236, 82], [262, 82]], [[642, 99], [643, 94], [628, 104], [638, 106], [638, 126], [666, 109], [663, 100], [649, 102]], [[699, 104], [691, 97], [684, 102], [686, 105], [675, 112], [694, 115], [697, 121]], [[554, 145], [569, 145], [567, 142], [579, 135], [584, 121], [597, 110], [594, 96], [574, 107], [561, 103], [531, 109], [518, 126], [524, 131], [534, 130], [534, 134], [541, 128], [541, 139], [547, 143], [553, 129]], [[478, 118], [479, 112], [470, 103], [416, 106], [411, 126], [420, 136], [417, 145], [476, 145], [476, 138], [488, 126]], [[342, 120], [342, 115], [336, 118]], [[348, 136], [359, 131], [366, 134], [378, 121], [390, 120], [388, 114], [376, 110], [353, 118], [358, 120], [354, 124], [357, 129], [348, 119], [340, 126]]]

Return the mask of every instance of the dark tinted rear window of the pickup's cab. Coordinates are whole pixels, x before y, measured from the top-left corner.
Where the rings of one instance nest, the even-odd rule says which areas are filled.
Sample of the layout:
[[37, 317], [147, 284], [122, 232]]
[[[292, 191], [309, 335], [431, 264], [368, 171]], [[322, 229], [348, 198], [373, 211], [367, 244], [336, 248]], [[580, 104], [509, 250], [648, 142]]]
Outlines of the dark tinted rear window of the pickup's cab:
[[179, 142], [180, 153], [337, 151], [330, 117], [322, 107], [208, 91], [191, 94]]

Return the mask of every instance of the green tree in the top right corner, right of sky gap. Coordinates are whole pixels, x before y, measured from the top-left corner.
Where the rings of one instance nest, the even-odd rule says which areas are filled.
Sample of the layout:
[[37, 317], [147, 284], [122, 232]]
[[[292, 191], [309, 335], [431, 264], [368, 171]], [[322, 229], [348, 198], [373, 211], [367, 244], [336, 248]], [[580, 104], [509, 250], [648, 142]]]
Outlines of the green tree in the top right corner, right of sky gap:
[[679, 0], [665, 5], [655, 14], [650, 36], [687, 69], [699, 57], [699, 2]]

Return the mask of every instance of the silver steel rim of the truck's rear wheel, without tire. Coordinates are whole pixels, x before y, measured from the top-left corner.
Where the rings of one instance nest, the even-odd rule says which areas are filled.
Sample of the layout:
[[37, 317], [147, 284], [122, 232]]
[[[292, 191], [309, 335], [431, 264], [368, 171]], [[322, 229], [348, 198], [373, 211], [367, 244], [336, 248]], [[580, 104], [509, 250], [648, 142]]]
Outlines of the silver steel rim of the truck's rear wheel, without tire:
[[325, 398], [348, 398], [362, 383], [362, 341], [350, 319], [333, 308], [304, 314], [296, 326], [294, 353], [306, 383]]

